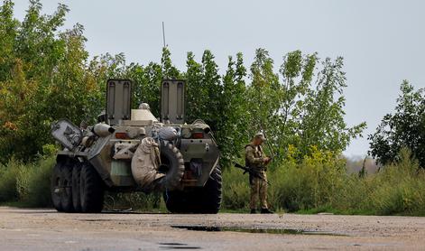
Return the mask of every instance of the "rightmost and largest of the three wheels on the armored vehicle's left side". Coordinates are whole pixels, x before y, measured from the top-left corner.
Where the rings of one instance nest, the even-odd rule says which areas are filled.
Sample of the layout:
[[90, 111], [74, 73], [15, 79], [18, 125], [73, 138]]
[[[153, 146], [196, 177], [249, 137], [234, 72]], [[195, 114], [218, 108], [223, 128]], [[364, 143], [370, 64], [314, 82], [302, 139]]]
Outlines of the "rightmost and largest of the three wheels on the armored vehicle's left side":
[[97, 213], [103, 209], [104, 182], [90, 163], [84, 163], [79, 174], [81, 211]]

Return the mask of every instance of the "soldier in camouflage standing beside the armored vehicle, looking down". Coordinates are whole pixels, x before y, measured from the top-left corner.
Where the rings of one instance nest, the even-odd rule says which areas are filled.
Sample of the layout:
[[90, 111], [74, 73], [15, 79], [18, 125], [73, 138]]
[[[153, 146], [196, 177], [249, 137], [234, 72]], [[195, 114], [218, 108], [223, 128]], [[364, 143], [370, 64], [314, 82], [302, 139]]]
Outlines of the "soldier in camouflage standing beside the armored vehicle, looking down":
[[257, 199], [260, 199], [261, 213], [273, 213], [267, 207], [267, 177], [266, 165], [272, 160], [265, 156], [262, 144], [264, 142], [263, 134], [259, 133], [254, 136], [253, 141], [245, 146], [245, 165], [253, 172], [257, 172], [262, 179], [249, 175], [249, 183], [251, 186], [251, 213], [256, 213]]

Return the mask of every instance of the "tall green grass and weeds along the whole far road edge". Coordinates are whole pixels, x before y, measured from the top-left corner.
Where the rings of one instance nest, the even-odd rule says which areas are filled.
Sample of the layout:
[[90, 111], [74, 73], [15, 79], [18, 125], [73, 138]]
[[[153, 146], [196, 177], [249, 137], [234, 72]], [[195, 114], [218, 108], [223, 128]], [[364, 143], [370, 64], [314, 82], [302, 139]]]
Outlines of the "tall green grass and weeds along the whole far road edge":
[[[409, 151], [380, 172], [347, 174], [345, 161], [315, 152], [302, 163], [288, 160], [267, 173], [268, 201], [276, 213], [425, 216], [425, 172]], [[54, 156], [34, 163], [12, 158], [0, 165], [0, 205], [51, 207], [50, 179]], [[248, 175], [236, 168], [223, 172], [224, 213], [249, 212]], [[161, 193], [107, 192], [105, 209], [167, 212]]]

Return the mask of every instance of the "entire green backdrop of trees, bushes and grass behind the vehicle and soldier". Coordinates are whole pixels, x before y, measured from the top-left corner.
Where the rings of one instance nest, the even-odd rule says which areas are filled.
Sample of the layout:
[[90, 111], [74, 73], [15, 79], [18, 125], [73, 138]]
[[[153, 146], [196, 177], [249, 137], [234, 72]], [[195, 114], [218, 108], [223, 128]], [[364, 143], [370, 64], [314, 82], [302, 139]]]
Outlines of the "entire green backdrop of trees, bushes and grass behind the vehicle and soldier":
[[[242, 53], [229, 56], [224, 74], [208, 50], [200, 60], [189, 51], [186, 70], [173, 66], [168, 48], [161, 63], [128, 63], [124, 54], [108, 53], [89, 59], [84, 27], [62, 29], [66, 5], [42, 14], [41, 3], [30, 1], [23, 21], [14, 18], [13, 6], [10, 0], [0, 6], [0, 203], [51, 205], [50, 174], [59, 149], [49, 134], [51, 122], [68, 117], [77, 125], [93, 123], [104, 109], [106, 79], [132, 79], [133, 107], [147, 102], [157, 116], [161, 80], [181, 78], [188, 83], [188, 122], [204, 119], [217, 137], [224, 210], [247, 207], [247, 177], [232, 163], [243, 162], [244, 145], [263, 131], [274, 157], [268, 173], [273, 209], [423, 214], [425, 102], [422, 90], [407, 82], [397, 113], [385, 116], [370, 135], [371, 153], [385, 165], [375, 174], [347, 174], [342, 152], [365, 123], [344, 121], [341, 57], [321, 60], [317, 53], [291, 51], [276, 71], [268, 51], [257, 49], [249, 69]], [[396, 132], [391, 125], [404, 129]], [[164, 209], [159, 194], [106, 196], [110, 208]]]

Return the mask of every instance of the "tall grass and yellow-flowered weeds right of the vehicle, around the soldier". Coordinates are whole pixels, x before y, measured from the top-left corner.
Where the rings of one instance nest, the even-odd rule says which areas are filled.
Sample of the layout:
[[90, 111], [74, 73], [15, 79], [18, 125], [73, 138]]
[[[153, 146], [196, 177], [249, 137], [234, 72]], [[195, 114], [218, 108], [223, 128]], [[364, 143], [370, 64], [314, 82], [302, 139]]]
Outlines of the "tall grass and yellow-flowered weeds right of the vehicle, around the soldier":
[[[290, 149], [293, 153], [293, 149]], [[348, 174], [345, 161], [310, 150], [301, 163], [290, 158], [267, 173], [269, 203], [273, 209], [342, 214], [425, 215], [425, 172], [411, 152], [402, 149], [400, 160], [381, 172], [361, 178]], [[237, 170], [224, 172], [224, 209], [247, 209], [248, 177]]]

